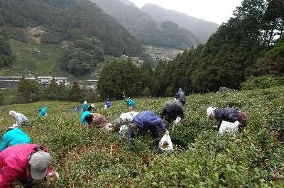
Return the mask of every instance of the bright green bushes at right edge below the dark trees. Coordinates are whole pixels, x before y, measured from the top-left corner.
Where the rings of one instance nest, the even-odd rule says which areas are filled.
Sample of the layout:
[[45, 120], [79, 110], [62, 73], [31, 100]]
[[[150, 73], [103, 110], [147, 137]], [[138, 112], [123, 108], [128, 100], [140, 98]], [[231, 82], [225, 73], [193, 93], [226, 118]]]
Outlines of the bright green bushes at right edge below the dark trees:
[[284, 85], [283, 77], [275, 77], [272, 75], [266, 75], [262, 77], [252, 77], [246, 82], [241, 84], [241, 89], [251, 90], [251, 89], [266, 89], [269, 87], [275, 87]]

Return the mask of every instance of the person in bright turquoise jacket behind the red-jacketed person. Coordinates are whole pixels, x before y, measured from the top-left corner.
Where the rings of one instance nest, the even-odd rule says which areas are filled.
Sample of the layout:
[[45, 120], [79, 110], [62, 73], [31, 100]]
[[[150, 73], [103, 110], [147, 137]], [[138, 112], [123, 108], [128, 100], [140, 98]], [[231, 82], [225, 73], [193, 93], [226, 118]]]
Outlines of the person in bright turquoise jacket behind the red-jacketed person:
[[4, 136], [2, 137], [0, 152], [8, 148], [8, 146], [23, 143], [31, 143], [31, 138], [28, 137], [28, 135], [21, 131], [21, 129], [19, 129], [18, 127], [9, 127]]

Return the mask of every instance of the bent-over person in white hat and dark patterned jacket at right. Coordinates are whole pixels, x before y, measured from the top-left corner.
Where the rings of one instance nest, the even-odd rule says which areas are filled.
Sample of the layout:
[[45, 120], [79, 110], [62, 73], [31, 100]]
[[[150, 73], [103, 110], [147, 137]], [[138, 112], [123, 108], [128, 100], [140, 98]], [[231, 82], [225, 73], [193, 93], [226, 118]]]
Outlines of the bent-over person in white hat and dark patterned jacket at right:
[[245, 128], [249, 121], [248, 116], [238, 109], [216, 109], [211, 106], [207, 109], [206, 113], [209, 118], [215, 118], [217, 120], [217, 125], [213, 126], [215, 130], [219, 130], [222, 121], [229, 121], [231, 123], [239, 121], [239, 128]]

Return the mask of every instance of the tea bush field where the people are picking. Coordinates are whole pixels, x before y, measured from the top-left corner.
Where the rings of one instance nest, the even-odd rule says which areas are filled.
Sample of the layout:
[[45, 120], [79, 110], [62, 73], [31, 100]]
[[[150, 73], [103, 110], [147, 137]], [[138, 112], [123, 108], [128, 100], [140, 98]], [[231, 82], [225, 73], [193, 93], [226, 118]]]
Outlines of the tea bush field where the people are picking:
[[[135, 111], [160, 111], [168, 99], [135, 99]], [[46, 146], [53, 155], [58, 182], [40, 181], [36, 187], [283, 187], [284, 185], [284, 87], [225, 94], [187, 96], [185, 118], [168, 126], [174, 148], [158, 150], [158, 140], [138, 137], [132, 152], [118, 133], [93, 128], [87, 133], [80, 123], [77, 103], [46, 101], [3, 106], [3, 134], [13, 119], [9, 110], [25, 114], [23, 130], [33, 143]], [[48, 116], [38, 117], [38, 106], [48, 106]], [[111, 109], [97, 112], [114, 121], [130, 111], [124, 101], [113, 101]], [[246, 130], [234, 136], [219, 136], [215, 121], [206, 115], [208, 106], [236, 107], [246, 112]], [[112, 148], [112, 149], [111, 149]]]

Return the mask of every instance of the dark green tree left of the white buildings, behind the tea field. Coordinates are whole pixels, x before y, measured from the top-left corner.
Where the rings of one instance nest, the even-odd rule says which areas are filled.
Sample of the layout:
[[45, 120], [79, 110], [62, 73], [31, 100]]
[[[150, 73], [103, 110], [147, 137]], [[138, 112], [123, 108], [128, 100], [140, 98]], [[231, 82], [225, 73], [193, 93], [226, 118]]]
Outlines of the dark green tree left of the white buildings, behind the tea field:
[[39, 101], [41, 96], [41, 85], [38, 81], [23, 77], [18, 83], [16, 95], [18, 103], [20, 104]]

